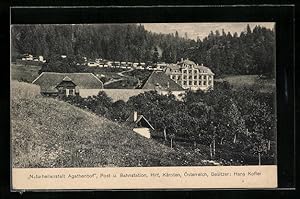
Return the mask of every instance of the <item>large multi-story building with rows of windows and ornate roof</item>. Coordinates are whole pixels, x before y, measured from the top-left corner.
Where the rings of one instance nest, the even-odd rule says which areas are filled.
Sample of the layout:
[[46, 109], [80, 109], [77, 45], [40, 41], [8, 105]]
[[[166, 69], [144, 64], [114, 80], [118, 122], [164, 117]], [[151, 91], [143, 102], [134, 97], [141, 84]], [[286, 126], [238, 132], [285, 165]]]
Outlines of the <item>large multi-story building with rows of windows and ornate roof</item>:
[[208, 90], [214, 87], [214, 73], [203, 64], [188, 59], [169, 65], [165, 73], [184, 89]]

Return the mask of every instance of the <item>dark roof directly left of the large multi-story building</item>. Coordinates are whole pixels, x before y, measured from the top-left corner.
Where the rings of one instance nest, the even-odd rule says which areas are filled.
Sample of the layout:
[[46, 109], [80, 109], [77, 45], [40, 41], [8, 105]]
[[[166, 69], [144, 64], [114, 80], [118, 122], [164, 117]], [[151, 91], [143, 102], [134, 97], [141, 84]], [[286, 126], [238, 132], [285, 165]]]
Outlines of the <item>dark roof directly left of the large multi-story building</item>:
[[179, 84], [170, 79], [170, 77], [162, 71], [153, 71], [144, 85], [142, 85], [142, 89], [158, 89], [168, 91], [183, 90]]

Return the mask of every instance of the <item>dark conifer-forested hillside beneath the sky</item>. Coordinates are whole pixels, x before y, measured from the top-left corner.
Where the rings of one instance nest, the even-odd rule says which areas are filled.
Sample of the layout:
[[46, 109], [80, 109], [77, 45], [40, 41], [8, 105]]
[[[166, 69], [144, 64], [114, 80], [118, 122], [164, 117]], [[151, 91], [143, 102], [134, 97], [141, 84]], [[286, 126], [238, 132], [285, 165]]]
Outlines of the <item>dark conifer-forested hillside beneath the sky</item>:
[[12, 55], [79, 55], [91, 59], [174, 63], [189, 58], [216, 73], [273, 76], [274, 30], [249, 26], [241, 34], [211, 32], [203, 40], [181, 38], [177, 32], [157, 34], [142, 25], [16, 25], [12, 27]]

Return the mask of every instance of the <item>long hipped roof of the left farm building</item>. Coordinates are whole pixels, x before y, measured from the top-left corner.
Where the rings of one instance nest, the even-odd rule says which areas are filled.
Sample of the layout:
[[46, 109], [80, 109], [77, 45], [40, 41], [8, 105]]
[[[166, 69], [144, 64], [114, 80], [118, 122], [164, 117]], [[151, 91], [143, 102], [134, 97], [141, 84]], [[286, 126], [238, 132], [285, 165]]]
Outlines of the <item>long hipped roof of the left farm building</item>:
[[102, 89], [103, 83], [92, 73], [54, 73], [43, 72], [33, 84], [41, 87], [41, 92], [57, 92], [56, 86], [62, 81], [72, 81], [79, 89]]

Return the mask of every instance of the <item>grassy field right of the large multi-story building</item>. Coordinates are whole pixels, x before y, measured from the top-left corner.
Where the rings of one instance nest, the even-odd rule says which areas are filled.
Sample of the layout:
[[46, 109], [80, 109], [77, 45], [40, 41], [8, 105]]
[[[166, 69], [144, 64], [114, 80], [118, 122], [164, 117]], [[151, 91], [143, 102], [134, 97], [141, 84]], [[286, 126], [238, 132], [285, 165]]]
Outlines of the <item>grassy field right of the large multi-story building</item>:
[[227, 81], [233, 88], [256, 87], [261, 92], [272, 92], [276, 89], [275, 79], [263, 79], [258, 75], [234, 75], [215, 79], [216, 82]]

